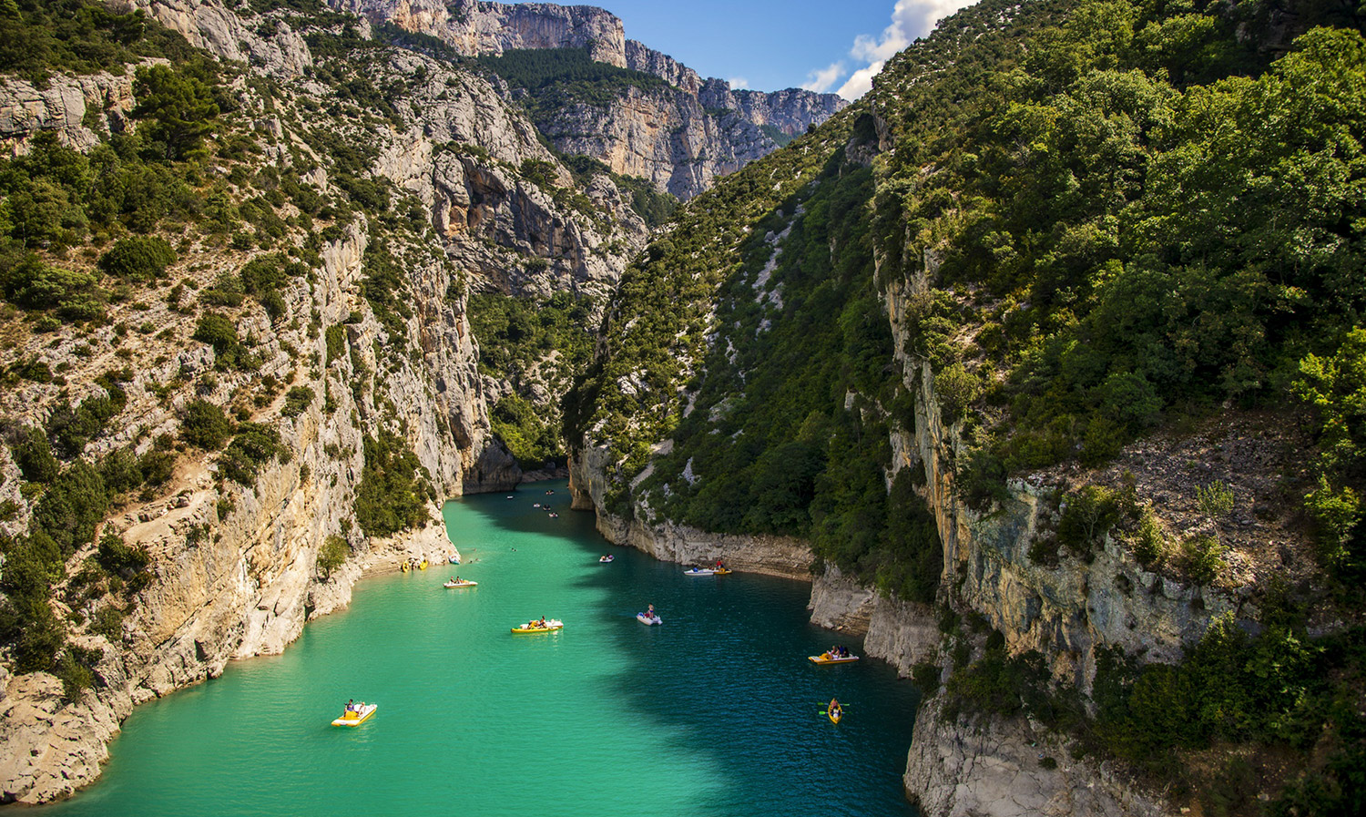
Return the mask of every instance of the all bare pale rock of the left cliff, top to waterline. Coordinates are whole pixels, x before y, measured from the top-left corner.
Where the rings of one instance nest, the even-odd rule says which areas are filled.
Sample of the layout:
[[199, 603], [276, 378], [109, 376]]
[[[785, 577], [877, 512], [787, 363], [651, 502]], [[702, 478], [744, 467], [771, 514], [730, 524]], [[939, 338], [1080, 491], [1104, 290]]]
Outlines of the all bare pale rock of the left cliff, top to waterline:
[[[260, 358], [257, 368], [217, 368], [214, 350], [190, 339], [194, 318], [186, 314], [194, 310], [183, 309], [194, 292], [234, 276], [258, 250], [228, 249], [195, 231], [178, 240], [179, 260], [169, 271], [186, 290], [184, 302], [154, 292], [111, 303], [108, 322], [87, 333], [63, 325], [40, 335], [18, 321], [7, 328], [10, 343], [0, 365], [33, 359], [61, 372], [64, 380], [20, 381], [0, 392], [0, 414], [12, 422], [41, 428], [56, 400], [101, 396], [104, 389], [94, 383], [101, 373], [133, 372], [122, 384], [127, 406], [86, 447], [87, 459], [124, 448], [145, 454], [157, 437], [180, 433], [184, 407], [197, 399], [276, 429], [281, 454], [257, 470], [253, 485], [240, 485], [221, 478], [212, 452], [183, 449], [157, 496], [126, 499], [113, 508], [101, 531], [146, 549], [150, 582], [128, 600], [112, 639], [79, 627], [71, 635], [74, 645], [101, 656], [96, 689], [68, 698], [48, 674], [0, 671], [5, 801], [44, 802], [89, 783], [107, 758], [105, 743], [134, 705], [213, 678], [229, 660], [283, 650], [309, 619], [346, 605], [363, 572], [392, 568], [410, 556], [443, 560], [451, 544], [440, 499], [504, 490], [522, 477], [490, 433], [467, 292], [568, 290], [605, 301], [645, 239], [643, 223], [609, 178], [572, 190], [570, 174], [540, 143], [534, 127], [484, 79], [395, 51], [369, 68], [374, 82], [402, 81], [407, 89], [395, 119], [380, 127], [344, 117], [320, 123], [317, 112], [337, 104], [336, 92], [301, 77], [314, 64], [313, 56], [283, 19], [242, 18], [216, 3], [139, 7], [220, 57], [243, 59], [251, 71], [291, 81], [291, 90], [270, 105], [245, 78], [231, 89], [242, 102], [235, 122], [247, 122], [249, 131], [254, 127], [262, 167], [298, 171], [322, 199], [346, 201], [328, 172], [329, 157], [310, 143], [310, 131], [321, 126], [373, 149], [369, 174], [391, 186], [395, 208], [403, 209], [382, 219], [358, 212], [329, 230], [317, 264], [280, 290], [280, 314], [266, 314], [250, 299], [227, 310], [238, 336]], [[273, 34], [261, 37], [272, 20]], [[523, 37], [531, 36], [525, 27]], [[0, 137], [25, 150], [34, 133], [51, 130], [64, 143], [87, 149], [97, 131], [135, 127], [127, 117], [134, 105], [131, 68], [122, 77], [57, 77], [46, 89], [0, 79]], [[527, 160], [549, 163], [550, 176], [523, 176]], [[249, 195], [247, 187], [236, 194]], [[307, 231], [292, 224], [296, 217], [299, 224], [311, 221], [292, 205], [280, 206], [288, 217], [281, 240], [287, 247], [305, 245]], [[395, 231], [393, 212], [417, 225]], [[398, 324], [392, 314], [377, 314], [367, 298], [367, 250], [380, 243], [402, 269], [398, 296], [404, 311]], [[128, 332], [128, 325], [138, 332]], [[122, 327], [117, 333], [116, 327]], [[329, 336], [332, 343], [340, 340], [340, 354], [329, 348]], [[288, 388], [307, 388], [313, 398], [301, 410], [285, 411]], [[393, 538], [367, 537], [352, 522], [365, 440], [380, 429], [411, 448], [436, 495], [425, 521]], [[19, 534], [33, 507], [19, 492], [23, 481], [8, 454], [0, 458], [0, 471], [5, 474], [0, 490], [19, 508], [4, 530]], [[344, 538], [350, 555], [322, 578], [318, 552], [328, 537]], [[71, 557], [68, 577], [93, 549], [87, 544]], [[63, 600], [75, 597], [66, 592], [66, 579], [55, 597], [57, 615], [66, 618]], [[75, 612], [89, 618], [108, 601], [82, 604]]]

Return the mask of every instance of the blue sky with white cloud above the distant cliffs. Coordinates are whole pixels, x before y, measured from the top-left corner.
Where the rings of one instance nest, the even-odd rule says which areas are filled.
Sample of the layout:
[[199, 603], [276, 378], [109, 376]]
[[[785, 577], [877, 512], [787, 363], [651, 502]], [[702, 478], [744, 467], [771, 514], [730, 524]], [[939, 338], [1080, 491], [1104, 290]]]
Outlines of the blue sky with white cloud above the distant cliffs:
[[[559, 0], [570, 5], [572, 0]], [[856, 98], [882, 60], [974, 0], [591, 0], [702, 77]]]

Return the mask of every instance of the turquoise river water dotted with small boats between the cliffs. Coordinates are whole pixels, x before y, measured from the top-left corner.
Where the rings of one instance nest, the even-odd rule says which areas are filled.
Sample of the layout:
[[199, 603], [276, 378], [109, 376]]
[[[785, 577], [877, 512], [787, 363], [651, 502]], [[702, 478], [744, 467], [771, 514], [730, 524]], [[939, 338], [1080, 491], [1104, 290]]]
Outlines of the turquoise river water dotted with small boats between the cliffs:
[[[104, 777], [36, 813], [914, 816], [915, 691], [807, 661], [836, 638], [809, 585], [686, 577], [608, 545], [563, 482], [515, 496], [447, 506], [466, 564], [366, 579], [283, 656], [139, 706]], [[441, 587], [456, 572], [479, 586]], [[663, 626], [635, 620], [650, 603]], [[564, 630], [510, 633], [542, 615]], [[329, 725], [347, 698], [380, 708]]]

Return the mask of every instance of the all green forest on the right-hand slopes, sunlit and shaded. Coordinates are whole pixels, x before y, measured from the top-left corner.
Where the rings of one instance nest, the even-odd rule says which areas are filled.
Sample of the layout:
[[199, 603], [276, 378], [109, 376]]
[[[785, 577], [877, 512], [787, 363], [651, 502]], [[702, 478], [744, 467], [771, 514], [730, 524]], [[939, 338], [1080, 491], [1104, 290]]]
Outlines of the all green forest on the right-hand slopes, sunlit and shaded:
[[[1249, 775], [1280, 792], [1269, 813], [1359, 810], [1362, 23], [1352, 3], [1198, 0], [988, 0], [944, 20], [628, 271], [568, 426], [607, 447], [608, 510], [809, 537], [884, 590], [952, 607], [921, 477], [892, 478], [888, 440], [915, 419], [869, 322], [880, 298], [906, 306], [897, 351], [930, 363], [923, 388], [964, 441], [956, 495], [982, 515], [1011, 478], [1277, 415], [1318, 443], [1307, 481], [1283, 480], [1318, 587], [1287, 596], [1272, 577], [1253, 634], [1212, 627], [1180, 664], [1112, 656], [1090, 701], [1004, 639], [955, 656], [949, 694], [1072, 730], [1212, 813], [1259, 810], [1239, 799]], [[1212, 515], [1233, 501], [1202, 490]], [[1227, 545], [1168, 538], [1150, 497], [1060, 500], [1055, 545], [1085, 557], [1112, 530], [1153, 571], [1224, 581]], [[1311, 637], [1311, 615], [1332, 634]]]

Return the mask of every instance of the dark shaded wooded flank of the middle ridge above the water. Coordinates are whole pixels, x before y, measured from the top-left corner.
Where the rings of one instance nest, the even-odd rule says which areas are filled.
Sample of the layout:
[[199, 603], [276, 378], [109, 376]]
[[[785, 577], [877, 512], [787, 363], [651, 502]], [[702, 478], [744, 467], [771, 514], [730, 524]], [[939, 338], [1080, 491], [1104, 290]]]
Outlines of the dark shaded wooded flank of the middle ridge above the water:
[[635, 493], [703, 530], [809, 538], [847, 572], [930, 603], [943, 566], [914, 490], [923, 480], [906, 469], [888, 489], [889, 437], [914, 424], [888, 366], [872, 191], [872, 171], [836, 150], [813, 184], [754, 224], [717, 291], [673, 448]]

